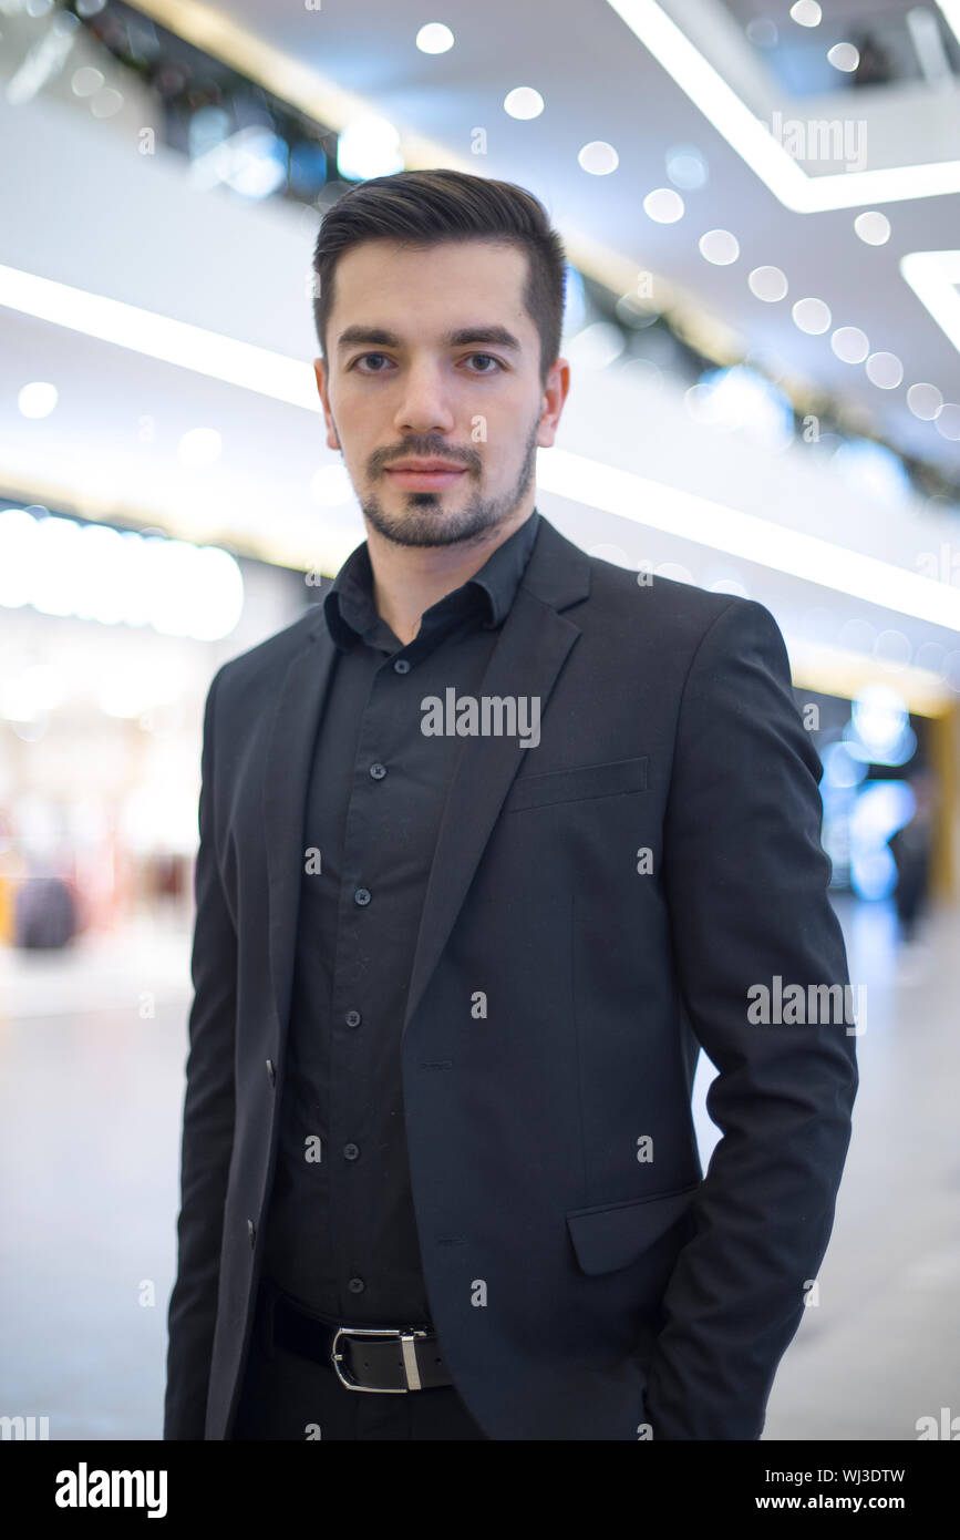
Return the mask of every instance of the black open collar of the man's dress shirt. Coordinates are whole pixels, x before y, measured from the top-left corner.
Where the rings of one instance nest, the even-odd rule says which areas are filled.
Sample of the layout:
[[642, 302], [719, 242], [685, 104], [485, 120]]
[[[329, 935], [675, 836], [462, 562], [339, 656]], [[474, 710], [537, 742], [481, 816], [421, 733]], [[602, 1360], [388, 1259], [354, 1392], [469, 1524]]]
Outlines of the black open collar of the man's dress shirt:
[[[478, 604], [480, 613], [485, 616], [482, 621], [485, 630], [502, 625], [509, 614], [511, 604], [534, 548], [538, 524], [540, 514], [534, 508], [520, 528], [514, 530], [495, 551], [491, 551], [483, 567], [472, 578], [468, 578], [460, 588], [445, 594], [437, 602], [445, 604], [454, 598], [460, 602], [472, 601]], [[369, 542], [365, 541], [355, 551], [351, 551], [334, 578], [331, 588], [323, 596], [328, 630], [332, 641], [342, 650], [351, 647], [378, 619], [374, 605], [374, 581], [368, 545]], [[426, 613], [429, 614], [431, 610]]]

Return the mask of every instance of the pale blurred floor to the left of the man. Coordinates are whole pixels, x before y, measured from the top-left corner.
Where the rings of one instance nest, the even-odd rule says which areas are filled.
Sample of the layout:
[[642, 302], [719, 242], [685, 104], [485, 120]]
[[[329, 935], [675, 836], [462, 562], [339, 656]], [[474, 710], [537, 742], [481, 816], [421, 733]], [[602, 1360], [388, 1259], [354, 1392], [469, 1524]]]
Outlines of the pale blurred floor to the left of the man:
[[162, 1432], [188, 1007], [157, 922], [0, 952], [0, 1414], [51, 1440]]

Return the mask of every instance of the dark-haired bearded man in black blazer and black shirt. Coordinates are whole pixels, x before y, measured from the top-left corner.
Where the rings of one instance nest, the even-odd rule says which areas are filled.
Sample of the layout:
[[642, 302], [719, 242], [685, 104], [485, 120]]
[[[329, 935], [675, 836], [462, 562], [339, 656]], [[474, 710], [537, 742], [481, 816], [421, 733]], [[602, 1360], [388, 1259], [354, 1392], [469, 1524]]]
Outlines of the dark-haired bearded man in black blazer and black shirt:
[[368, 541], [206, 704], [165, 1437], [757, 1438], [857, 1086], [752, 1009], [848, 983], [783, 639], [535, 508], [535, 199], [378, 177], [314, 262]]

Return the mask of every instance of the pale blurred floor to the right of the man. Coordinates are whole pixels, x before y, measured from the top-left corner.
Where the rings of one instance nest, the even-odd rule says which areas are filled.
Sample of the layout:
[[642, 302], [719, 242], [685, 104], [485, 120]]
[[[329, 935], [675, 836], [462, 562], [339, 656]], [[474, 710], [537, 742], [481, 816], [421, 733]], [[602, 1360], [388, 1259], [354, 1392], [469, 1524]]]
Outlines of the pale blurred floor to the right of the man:
[[[765, 1438], [917, 1438], [960, 1414], [960, 913], [897, 946], [886, 904], [837, 906], [868, 986], [860, 1092], [820, 1269], [769, 1400]], [[855, 996], [854, 996], [855, 998]]]

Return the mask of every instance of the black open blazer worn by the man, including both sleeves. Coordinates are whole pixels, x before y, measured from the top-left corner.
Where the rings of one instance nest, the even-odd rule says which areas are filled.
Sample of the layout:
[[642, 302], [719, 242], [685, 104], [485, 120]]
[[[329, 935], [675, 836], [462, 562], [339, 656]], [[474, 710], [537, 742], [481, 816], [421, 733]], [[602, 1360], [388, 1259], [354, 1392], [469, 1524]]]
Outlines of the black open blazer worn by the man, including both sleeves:
[[[748, 1019], [775, 975], [849, 981], [783, 638], [754, 601], [643, 576], [542, 517], [483, 681], [540, 698], [540, 744], [465, 741], [412, 958], [423, 1267], [491, 1438], [757, 1438], [851, 1135], [855, 1027]], [[165, 1438], [231, 1437], [332, 661], [312, 608], [206, 702]]]

